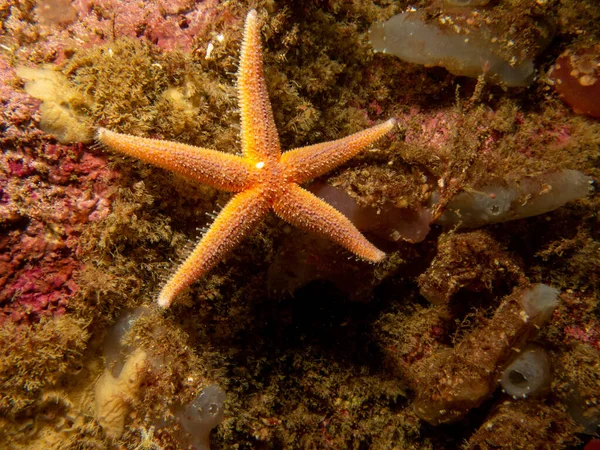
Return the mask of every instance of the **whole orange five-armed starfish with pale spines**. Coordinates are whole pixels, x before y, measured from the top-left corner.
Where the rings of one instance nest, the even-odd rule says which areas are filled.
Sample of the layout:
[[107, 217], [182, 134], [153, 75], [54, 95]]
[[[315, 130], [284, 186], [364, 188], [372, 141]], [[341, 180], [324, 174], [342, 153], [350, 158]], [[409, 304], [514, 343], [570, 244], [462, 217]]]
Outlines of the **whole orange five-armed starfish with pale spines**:
[[273, 210], [283, 220], [320, 233], [361, 259], [379, 262], [385, 253], [350, 220], [299, 186], [346, 162], [391, 131], [394, 119], [335, 141], [282, 154], [263, 77], [260, 26], [255, 10], [246, 17], [238, 71], [242, 155], [141, 138], [99, 128], [100, 143], [120, 153], [170, 170], [199, 183], [235, 192], [194, 250], [158, 295], [167, 308], [206, 274]]

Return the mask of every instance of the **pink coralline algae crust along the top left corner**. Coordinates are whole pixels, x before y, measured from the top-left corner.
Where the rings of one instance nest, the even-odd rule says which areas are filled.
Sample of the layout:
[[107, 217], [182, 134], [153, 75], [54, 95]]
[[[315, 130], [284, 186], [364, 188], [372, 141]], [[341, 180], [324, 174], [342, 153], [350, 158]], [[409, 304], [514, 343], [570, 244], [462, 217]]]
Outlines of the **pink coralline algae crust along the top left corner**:
[[144, 37], [164, 50], [190, 51], [215, 20], [218, 2], [102, 2], [41, 0], [17, 2], [3, 20], [3, 45], [21, 59], [61, 62], [74, 49]]

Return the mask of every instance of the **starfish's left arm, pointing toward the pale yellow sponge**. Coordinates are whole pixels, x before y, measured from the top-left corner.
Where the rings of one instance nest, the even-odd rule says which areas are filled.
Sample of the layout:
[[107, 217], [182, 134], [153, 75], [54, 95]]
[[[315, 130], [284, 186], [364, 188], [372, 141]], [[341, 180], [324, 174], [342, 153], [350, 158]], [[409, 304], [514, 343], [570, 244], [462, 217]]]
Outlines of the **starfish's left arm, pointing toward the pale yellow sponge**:
[[99, 128], [96, 136], [113, 150], [218, 189], [239, 192], [253, 184], [254, 169], [240, 156], [105, 128]]

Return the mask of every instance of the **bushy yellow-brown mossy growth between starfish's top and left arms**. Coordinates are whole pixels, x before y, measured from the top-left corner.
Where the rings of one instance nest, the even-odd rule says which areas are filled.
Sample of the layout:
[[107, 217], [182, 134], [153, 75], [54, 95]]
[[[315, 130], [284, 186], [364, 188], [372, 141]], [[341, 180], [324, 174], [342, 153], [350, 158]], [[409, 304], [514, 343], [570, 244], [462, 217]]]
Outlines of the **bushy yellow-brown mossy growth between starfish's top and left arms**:
[[79, 52], [63, 68], [91, 98], [88, 113], [98, 125], [227, 150], [237, 132], [225, 130], [217, 142], [206, 138], [235, 117], [235, 93], [204, 70], [190, 55], [128, 39]]

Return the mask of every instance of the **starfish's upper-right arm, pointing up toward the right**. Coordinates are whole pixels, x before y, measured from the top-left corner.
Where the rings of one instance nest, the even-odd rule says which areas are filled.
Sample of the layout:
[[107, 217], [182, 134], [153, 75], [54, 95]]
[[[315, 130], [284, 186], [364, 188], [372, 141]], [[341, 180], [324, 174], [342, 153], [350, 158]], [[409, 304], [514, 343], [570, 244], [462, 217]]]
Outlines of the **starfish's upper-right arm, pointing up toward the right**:
[[285, 152], [281, 162], [289, 181], [304, 183], [348, 161], [366, 146], [390, 132], [396, 120], [390, 119], [374, 127], [342, 139], [309, 145]]

